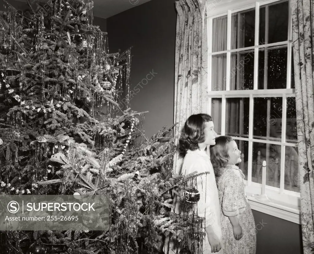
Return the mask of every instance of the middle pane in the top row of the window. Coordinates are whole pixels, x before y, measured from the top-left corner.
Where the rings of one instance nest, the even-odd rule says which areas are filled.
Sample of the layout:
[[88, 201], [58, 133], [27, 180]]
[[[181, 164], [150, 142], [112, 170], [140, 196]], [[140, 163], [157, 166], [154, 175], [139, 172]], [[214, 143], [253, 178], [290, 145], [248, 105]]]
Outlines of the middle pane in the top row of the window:
[[234, 13], [231, 16], [231, 49], [254, 46], [255, 9]]

